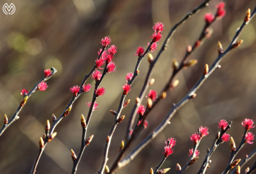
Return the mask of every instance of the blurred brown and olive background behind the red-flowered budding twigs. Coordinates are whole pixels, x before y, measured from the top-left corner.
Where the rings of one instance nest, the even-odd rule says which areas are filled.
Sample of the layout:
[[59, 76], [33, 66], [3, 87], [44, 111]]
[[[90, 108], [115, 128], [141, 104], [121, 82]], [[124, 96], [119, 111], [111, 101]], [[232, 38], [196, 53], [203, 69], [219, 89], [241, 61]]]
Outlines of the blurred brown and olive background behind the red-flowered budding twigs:
[[[46, 91], [36, 91], [20, 112], [20, 119], [13, 123], [0, 137], [0, 173], [29, 173], [38, 153], [38, 140], [44, 134], [47, 119], [54, 113], [59, 116], [72, 98], [69, 88], [81, 84], [83, 77], [95, 63], [97, 51], [104, 36], [111, 36], [112, 43], [118, 47], [114, 58], [116, 72], [106, 75], [100, 86], [106, 88], [106, 94], [97, 99], [99, 109], [93, 112], [88, 128], [88, 136], [94, 134], [90, 146], [86, 148], [78, 166], [77, 173], [97, 173], [103, 157], [106, 136], [113, 124], [114, 117], [109, 109], [116, 110], [122, 94], [127, 72], [133, 72], [137, 58], [134, 56], [138, 46], [147, 47], [155, 22], [163, 22], [165, 38], [170, 28], [187, 12], [202, 3], [202, 0], [53, 0], [53, 1], [1, 1], [15, 4], [13, 15], [0, 13], [0, 119], [4, 113], [10, 119], [19, 106], [20, 90], [31, 90], [42, 78], [44, 69], [55, 67], [58, 73], [47, 84]], [[182, 59], [189, 44], [193, 44], [204, 26], [204, 14], [215, 13], [216, 4], [212, 0], [207, 8], [180, 26], [169, 47], [156, 63], [152, 77], [156, 80], [150, 89], [160, 91], [172, 72], [172, 60]], [[173, 102], [179, 102], [202, 75], [205, 63], [211, 65], [218, 53], [217, 42], [225, 49], [230, 43], [236, 29], [241, 25], [248, 8], [253, 10], [255, 1], [227, 1], [226, 16], [212, 25], [211, 38], [205, 40], [202, 47], [196, 49], [190, 59], [198, 63], [186, 68], [177, 75], [180, 84], [168, 92], [168, 97], [159, 103], [148, 118], [148, 128], [134, 142], [134, 148], [152, 132]], [[209, 127], [206, 136], [199, 146], [200, 159], [185, 173], [196, 173], [204, 160], [207, 148], [210, 148], [221, 119], [232, 121], [228, 131], [237, 145], [240, 143], [244, 127], [244, 118], [255, 120], [256, 114], [256, 20], [253, 19], [244, 29], [241, 47], [230, 52], [216, 70], [197, 92], [195, 99], [182, 107], [170, 126], [164, 129], [130, 164], [116, 173], [148, 173], [155, 168], [164, 152], [164, 140], [177, 139], [174, 154], [170, 155], [163, 168], [171, 167], [168, 173], [175, 173], [177, 162], [184, 166], [188, 161], [189, 148], [193, 147], [189, 136], [201, 125]], [[159, 46], [163, 44], [162, 39]], [[158, 49], [159, 50], [159, 49]], [[154, 56], [157, 51], [152, 53]], [[141, 84], [145, 79], [148, 62], [144, 59], [140, 74], [132, 86], [127, 99], [131, 103], [122, 112], [125, 120], [118, 125], [109, 151], [108, 165], [118, 154], [120, 142], [124, 139], [127, 120], [131, 113], [134, 99], [138, 96]], [[89, 79], [94, 84], [92, 79]], [[56, 138], [48, 143], [42, 155], [36, 173], [71, 173], [72, 160], [70, 148], [79, 153], [81, 144], [80, 115], [88, 112], [86, 102], [92, 100], [92, 92], [79, 97], [70, 115], [56, 127]], [[255, 130], [252, 129], [255, 133]], [[132, 150], [129, 149], [129, 151]], [[255, 143], [245, 145], [237, 156], [244, 158], [255, 148]], [[223, 143], [212, 155], [208, 173], [221, 173], [230, 156], [228, 143]], [[254, 159], [255, 161], [255, 159]]]

